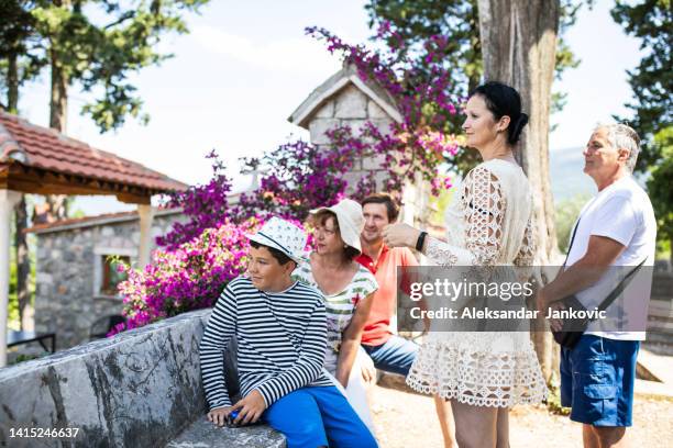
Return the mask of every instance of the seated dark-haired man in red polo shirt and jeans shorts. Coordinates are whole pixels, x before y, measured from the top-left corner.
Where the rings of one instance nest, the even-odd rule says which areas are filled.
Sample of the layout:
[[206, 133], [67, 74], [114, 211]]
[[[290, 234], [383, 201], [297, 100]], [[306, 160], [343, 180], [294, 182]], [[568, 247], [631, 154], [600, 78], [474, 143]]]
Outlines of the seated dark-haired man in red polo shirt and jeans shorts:
[[[374, 292], [361, 344], [377, 369], [406, 377], [416, 359], [418, 345], [394, 335], [390, 320], [396, 309], [397, 267], [418, 266], [418, 261], [408, 248], [388, 248], [384, 244], [383, 228], [396, 222], [399, 215], [399, 208], [389, 194], [377, 193], [365, 198], [362, 212], [365, 219], [364, 229], [360, 234], [362, 253], [355, 260], [374, 273], [378, 290]], [[456, 443], [451, 405], [438, 396], [434, 404], [444, 446], [453, 447]]]

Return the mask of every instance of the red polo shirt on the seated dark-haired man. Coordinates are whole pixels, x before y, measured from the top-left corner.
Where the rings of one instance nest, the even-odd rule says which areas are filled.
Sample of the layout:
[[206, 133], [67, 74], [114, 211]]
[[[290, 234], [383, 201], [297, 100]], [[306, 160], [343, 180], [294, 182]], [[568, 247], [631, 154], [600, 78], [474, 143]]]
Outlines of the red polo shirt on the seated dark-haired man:
[[[397, 267], [418, 266], [418, 261], [408, 248], [394, 247], [390, 249], [385, 245], [376, 265], [364, 253], [357, 256], [355, 260], [372, 271], [378, 282], [378, 290], [374, 292], [372, 311], [362, 334], [362, 344], [379, 346], [385, 344], [393, 334], [390, 332], [390, 318], [393, 318], [396, 307]], [[404, 284], [402, 288], [405, 288]]]

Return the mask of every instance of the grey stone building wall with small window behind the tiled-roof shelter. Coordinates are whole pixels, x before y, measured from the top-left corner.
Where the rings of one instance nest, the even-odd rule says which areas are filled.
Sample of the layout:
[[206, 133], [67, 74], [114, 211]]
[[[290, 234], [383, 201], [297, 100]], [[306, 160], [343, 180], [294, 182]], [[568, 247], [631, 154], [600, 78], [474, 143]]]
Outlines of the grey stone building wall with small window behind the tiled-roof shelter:
[[[157, 212], [151, 232], [153, 249], [155, 237], [166, 234], [181, 216]], [[124, 255], [137, 261], [139, 243], [137, 216], [37, 232], [35, 331], [56, 333], [57, 349], [88, 341], [96, 320], [122, 310], [119, 296], [98, 291], [103, 258]]]

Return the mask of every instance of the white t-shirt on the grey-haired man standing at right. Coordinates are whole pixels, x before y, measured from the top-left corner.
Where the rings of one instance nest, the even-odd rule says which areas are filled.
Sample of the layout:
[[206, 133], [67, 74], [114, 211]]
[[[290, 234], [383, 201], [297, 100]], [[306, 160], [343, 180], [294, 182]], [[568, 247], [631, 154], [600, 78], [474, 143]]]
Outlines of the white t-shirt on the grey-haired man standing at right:
[[[577, 225], [577, 222], [575, 223]], [[572, 235], [572, 234], [571, 234]], [[610, 312], [619, 313], [622, 329], [636, 326], [642, 331], [616, 331], [619, 326], [597, 320], [589, 324], [586, 334], [609, 339], [644, 340], [644, 325], [652, 288], [652, 267], [657, 242], [657, 221], [650, 198], [631, 176], [626, 176], [599, 191], [580, 212], [578, 227], [571, 247], [566, 266], [584, 257], [592, 235], [611, 238], [626, 248], [613, 266], [636, 267], [643, 259], [643, 268], [631, 279], [621, 296], [610, 304]], [[588, 310], [593, 310], [617, 287], [632, 268], [610, 269], [595, 284], [576, 293], [576, 298]]]

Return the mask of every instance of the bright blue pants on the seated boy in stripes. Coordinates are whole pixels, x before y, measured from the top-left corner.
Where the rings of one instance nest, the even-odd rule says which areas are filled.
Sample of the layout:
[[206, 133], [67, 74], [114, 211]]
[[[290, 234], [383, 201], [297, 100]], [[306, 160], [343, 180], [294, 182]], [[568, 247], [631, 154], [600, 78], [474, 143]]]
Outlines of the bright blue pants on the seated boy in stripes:
[[288, 448], [375, 448], [378, 445], [345, 396], [333, 387], [301, 388], [263, 414]]

